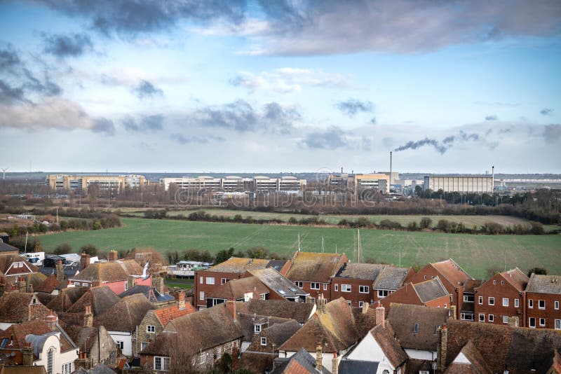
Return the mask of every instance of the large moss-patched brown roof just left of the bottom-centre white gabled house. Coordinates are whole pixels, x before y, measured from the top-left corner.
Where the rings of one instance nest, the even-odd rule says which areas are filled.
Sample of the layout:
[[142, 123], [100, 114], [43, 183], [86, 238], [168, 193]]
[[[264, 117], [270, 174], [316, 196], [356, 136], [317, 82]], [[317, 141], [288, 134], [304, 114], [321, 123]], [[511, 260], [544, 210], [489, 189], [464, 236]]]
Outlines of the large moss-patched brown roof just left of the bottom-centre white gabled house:
[[[370, 326], [372, 327], [372, 326]], [[344, 298], [332, 300], [325, 305], [325, 313], [316, 311], [304, 326], [279, 347], [283, 351], [297, 351], [304, 347], [308, 352], [316, 351], [317, 342], [325, 342], [324, 352], [339, 352], [357, 342], [362, 336]]]

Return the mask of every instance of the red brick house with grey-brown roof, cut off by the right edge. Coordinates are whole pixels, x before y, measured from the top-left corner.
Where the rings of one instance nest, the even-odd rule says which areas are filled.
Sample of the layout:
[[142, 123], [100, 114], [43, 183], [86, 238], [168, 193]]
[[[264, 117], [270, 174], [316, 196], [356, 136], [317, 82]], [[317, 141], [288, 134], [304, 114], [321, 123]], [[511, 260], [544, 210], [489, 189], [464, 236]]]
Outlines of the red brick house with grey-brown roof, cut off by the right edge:
[[559, 276], [532, 273], [525, 291], [525, 327], [561, 330], [560, 303]]

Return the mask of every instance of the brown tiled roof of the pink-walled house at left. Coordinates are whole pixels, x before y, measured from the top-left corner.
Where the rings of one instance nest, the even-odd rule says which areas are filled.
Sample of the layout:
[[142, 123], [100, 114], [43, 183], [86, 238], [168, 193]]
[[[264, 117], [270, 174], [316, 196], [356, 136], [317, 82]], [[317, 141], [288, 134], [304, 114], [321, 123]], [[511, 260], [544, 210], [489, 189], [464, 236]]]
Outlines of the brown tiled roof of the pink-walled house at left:
[[91, 263], [78, 275], [69, 280], [87, 282], [118, 282], [126, 280], [129, 275], [142, 275], [144, 270], [135, 260], [114, 261], [108, 263]]

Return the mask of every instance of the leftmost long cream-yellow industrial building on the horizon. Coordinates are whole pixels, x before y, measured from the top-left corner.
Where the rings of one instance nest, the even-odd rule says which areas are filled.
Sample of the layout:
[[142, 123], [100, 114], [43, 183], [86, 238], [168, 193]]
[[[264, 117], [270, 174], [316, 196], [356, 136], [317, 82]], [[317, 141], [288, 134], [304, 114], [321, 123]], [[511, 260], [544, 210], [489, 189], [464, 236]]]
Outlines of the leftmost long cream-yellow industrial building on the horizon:
[[87, 191], [96, 183], [100, 191], [119, 191], [122, 188], [141, 188], [148, 181], [142, 175], [67, 175], [53, 174], [45, 179], [47, 186], [53, 190]]

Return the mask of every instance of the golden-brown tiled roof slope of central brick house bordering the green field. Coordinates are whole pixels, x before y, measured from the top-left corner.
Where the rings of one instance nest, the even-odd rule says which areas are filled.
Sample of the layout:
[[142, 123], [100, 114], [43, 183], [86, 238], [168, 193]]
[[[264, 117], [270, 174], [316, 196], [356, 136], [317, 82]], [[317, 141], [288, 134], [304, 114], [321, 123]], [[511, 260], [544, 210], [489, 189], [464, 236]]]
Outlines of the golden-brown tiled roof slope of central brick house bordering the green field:
[[297, 252], [286, 277], [292, 281], [328, 283], [344, 254]]

